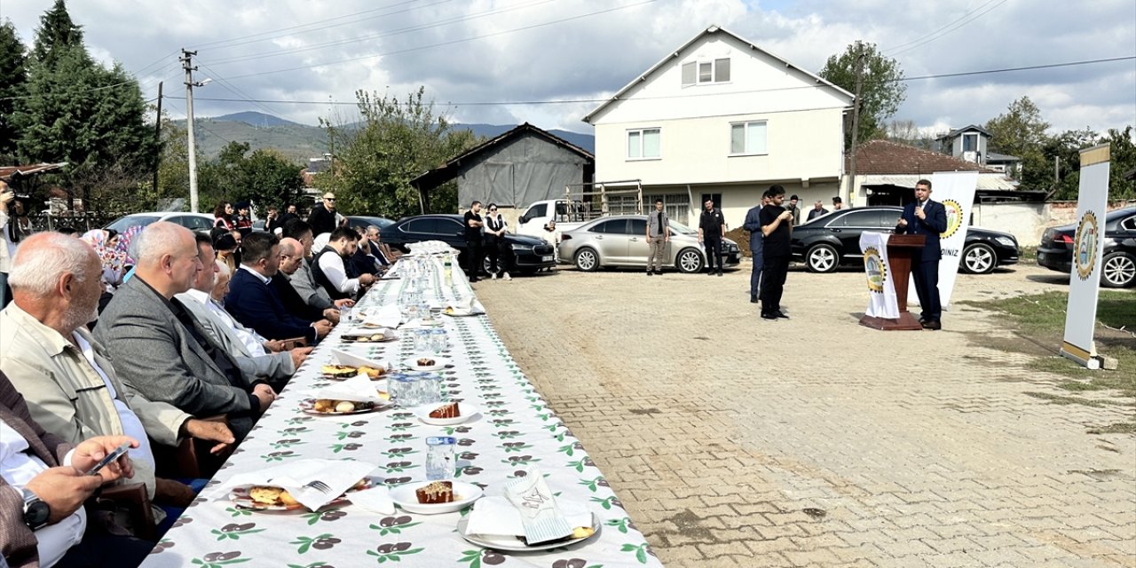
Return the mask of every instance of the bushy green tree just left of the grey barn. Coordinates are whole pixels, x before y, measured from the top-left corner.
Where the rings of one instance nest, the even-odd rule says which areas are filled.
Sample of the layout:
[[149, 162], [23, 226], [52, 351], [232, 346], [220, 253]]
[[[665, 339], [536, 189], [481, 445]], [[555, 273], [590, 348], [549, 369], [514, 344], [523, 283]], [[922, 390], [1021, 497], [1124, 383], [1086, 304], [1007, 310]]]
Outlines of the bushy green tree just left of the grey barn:
[[324, 120], [335, 140], [335, 170], [320, 174], [316, 185], [336, 192], [336, 209], [395, 219], [418, 214], [423, 207], [427, 212], [456, 211], [456, 183], [433, 190], [420, 202], [410, 179], [473, 148], [477, 137], [452, 130], [434, 102], [425, 100], [425, 87], [404, 101], [361, 90], [356, 97], [361, 126], [345, 128]]

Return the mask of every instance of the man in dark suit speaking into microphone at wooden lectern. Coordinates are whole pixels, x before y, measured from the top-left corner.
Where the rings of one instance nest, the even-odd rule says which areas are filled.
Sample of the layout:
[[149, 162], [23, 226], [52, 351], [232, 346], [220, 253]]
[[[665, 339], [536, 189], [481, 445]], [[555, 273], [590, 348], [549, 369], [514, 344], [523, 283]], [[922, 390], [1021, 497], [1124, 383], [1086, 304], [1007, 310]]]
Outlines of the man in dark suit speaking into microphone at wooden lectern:
[[946, 208], [930, 200], [930, 182], [916, 182], [916, 201], [903, 208], [903, 215], [895, 225], [895, 234], [924, 235], [924, 248], [911, 259], [911, 275], [916, 279], [916, 293], [922, 317], [924, 329], [941, 329], [943, 306], [938, 299], [938, 260], [943, 257], [938, 235], [946, 231]]

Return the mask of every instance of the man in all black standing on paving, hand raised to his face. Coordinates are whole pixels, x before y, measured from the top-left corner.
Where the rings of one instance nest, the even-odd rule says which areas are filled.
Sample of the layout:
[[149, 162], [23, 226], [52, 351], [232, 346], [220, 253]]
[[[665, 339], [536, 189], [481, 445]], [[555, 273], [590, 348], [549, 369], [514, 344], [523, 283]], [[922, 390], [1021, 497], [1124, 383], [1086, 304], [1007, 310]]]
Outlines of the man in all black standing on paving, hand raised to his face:
[[772, 185], [766, 190], [765, 198], [769, 204], [761, 208], [761, 234], [765, 235], [762, 254], [765, 267], [761, 270], [761, 317], [777, 319], [788, 316], [780, 310], [780, 296], [785, 290], [785, 276], [788, 274], [788, 261], [792, 256], [788, 242], [793, 234], [793, 212], [784, 208], [785, 187]]

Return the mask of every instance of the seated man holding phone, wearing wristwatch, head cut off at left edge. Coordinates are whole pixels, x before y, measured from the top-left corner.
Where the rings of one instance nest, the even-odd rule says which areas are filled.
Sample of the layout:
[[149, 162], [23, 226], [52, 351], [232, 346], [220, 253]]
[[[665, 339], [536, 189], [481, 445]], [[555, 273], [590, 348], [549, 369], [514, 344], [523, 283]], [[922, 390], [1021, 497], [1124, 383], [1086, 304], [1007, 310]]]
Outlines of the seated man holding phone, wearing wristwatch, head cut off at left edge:
[[97, 436], [76, 445], [45, 432], [0, 371], [0, 566], [137, 566], [152, 542], [89, 528], [83, 503], [106, 483], [132, 477], [130, 456], [83, 475], [127, 436]]

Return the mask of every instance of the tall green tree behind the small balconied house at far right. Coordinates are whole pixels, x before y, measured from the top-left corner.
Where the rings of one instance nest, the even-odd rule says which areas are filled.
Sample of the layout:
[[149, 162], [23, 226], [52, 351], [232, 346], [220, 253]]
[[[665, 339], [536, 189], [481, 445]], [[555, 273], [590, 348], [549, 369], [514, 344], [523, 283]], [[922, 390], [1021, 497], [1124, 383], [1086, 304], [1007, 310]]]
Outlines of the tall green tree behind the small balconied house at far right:
[[1041, 109], [1029, 97], [1011, 102], [1004, 114], [986, 123], [991, 133], [989, 149], [1021, 158], [1022, 189], [1053, 187], [1053, 160], [1046, 160], [1043, 152], [1049, 128], [1050, 123], [1042, 118]]

